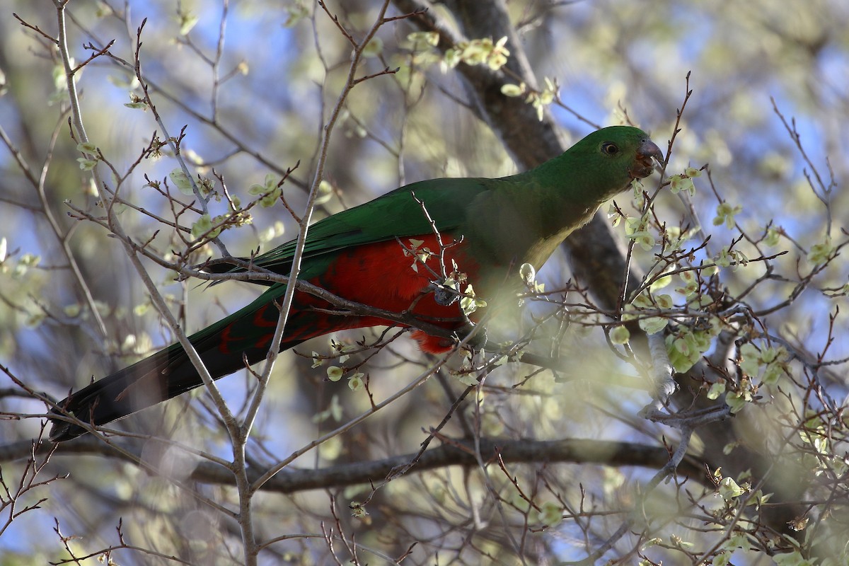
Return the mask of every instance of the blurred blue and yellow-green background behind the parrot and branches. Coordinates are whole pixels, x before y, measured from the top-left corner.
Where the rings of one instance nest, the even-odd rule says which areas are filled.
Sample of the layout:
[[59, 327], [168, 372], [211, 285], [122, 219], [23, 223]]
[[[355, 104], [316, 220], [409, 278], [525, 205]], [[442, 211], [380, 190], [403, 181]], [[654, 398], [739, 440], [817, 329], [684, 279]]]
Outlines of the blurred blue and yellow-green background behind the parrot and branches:
[[[454, 25], [452, 6], [435, 3], [431, 10]], [[845, 360], [849, 340], [840, 310], [846, 306], [849, 270], [840, 255], [825, 261], [816, 252], [822, 246], [826, 251], [835, 248], [846, 238], [849, 204], [841, 183], [849, 163], [849, 4], [510, 0], [506, 6], [520, 42], [506, 47], [511, 56], [518, 49], [526, 53], [541, 90], [546, 78], [556, 85], [558, 96], [547, 100], [545, 109], [566, 146], [596, 127], [630, 121], [666, 152], [689, 84], [693, 93], [678, 123], [681, 131], [667, 175], [709, 164], [710, 176], [703, 172], [694, 178], [695, 216], [668, 190], [655, 200], [655, 216], [670, 226], [700, 221], [711, 237], [710, 254], [700, 252], [700, 258], [717, 255], [743, 234], [736, 249], [750, 259], [787, 251], [773, 260], [770, 270], [756, 261], [722, 270], [719, 287], [745, 296], [755, 311], [781, 305], [765, 312], [760, 320], [766, 328], [758, 331], [785, 340], [792, 352], [810, 355], [790, 356], [793, 360]], [[374, 0], [327, 2], [327, 10], [357, 40], [374, 25], [379, 8]], [[179, 165], [167, 148], [157, 155], [145, 151], [155, 136], [182, 136], [189, 168], [210, 178], [214, 172], [243, 203], [252, 198], [252, 185], [265, 183], [267, 175], [279, 179], [295, 168], [284, 184], [284, 198], [301, 213], [323, 125], [351, 61], [351, 43], [318, 4], [74, 0], [65, 14], [76, 64], [114, 41], [109, 55], [85, 65], [76, 87], [87, 136], [111, 166], [99, 165], [104, 181], [132, 204], [118, 205], [118, 218], [132, 238], [149, 241], [166, 259], [183, 246], [171, 227], [157, 221], [173, 221], [174, 211], [151, 182], [164, 187]], [[391, 5], [387, 14], [401, 12]], [[143, 22], [138, 59], [167, 132], [149, 109], [127, 106], [141, 95], [132, 65]], [[59, 52], [42, 35], [55, 36], [57, 29], [55, 6], [47, 0], [0, 3], [0, 126], [5, 146], [0, 151], [0, 360], [32, 389], [61, 399], [92, 377], [103, 377], [170, 344], [172, 335], [150, 305], [121, 244], [74, 211], [104, 215], [91, 173], [81, 168], [82, 154], [70, 137]], [[502, 140], [481, 120], [457, 68], [425, 37], [410, 36], [416, 31], [419, 27], [408, 20], [386, 23], [367, 49], [357, 76], [398, 70], [363, 81], [347, 98], [330, 139], [324, 170], [329, 190], [319, 199], [316, 218], [408, 182], [501, 177], [520, 170]], [[497, 42], [499, 37], [492, 39]], [[782, 116], [786, 123], [792, 120], [798, 139], [788, 132]], [[221, 196], [221, 183], [213, 181]], [[657, 184], [656, 176], [645, 182], [649, 192]], [[720, 216], [717, 225], [721, 201], [739, 210], [729, 223]], [[639, 216], [630, 194], [617, 203]], [[226, 199], [213, 199], [211, 214], [223, 214], [227, 206]], [[251, 213], [250, 225], [222, 233], [234, 255], [249, 255], [257, 247], [265, 251], [295, 238], [295, 221], [282, 205], [256, 207]], [[186, 212], [179, 221], [191, 227], [197, 218]], [[774, 238], [760, 241], [770, 227]], [[623, 246], [627, 244], [624, 223], [614, 232]], [[695, 236], [691, 245], [700, 241]], [[760, 241], [759, 247], [752, 244], [755, 241]], [[633, 264], [648, 270], [658, 251], [634, 246]], [[216, 249], [207, 245], [193, 258], [200, 262], [212, 256]], [[174, 272], [153, 262], [145, 266], [190, 331], [258, 294], [249, 283], [209, 288], [197, 280], [175, 281]], [[809, 274], [809, 284], [796, 292]], [[547, 290], [565, 288], [571, 281], [565, 255], [556, 253], [539, 278]], [[748, 294], [754, 285], [756, 292]], [[550, 305], [537, 303], [527, 305], [526, 323], [531, 313], [551, 311]], [[498, 333], [498, 338], [512, 337], [511, 328]], [[476, 394], [482, 401], [461, 406], [460, 417], [444, 434], [464, 436], [469, 432], [464, 426], [477, 423], [478, 434], [494, 438], [615, 440], [631, 442], [635, 450], [663, 446], [661, 439], [669, 430], [637, 416], [649, 401], [643, 390], [593, 383], [595, 375], [636, 375], [611, 352], [602, 328], [576, 325], [561, 334], [553, 330], [551, 336], [555, 334], [556, 340], [540, 341], [537, 353], [556, 350], [567, 359], [565, 378], [506, 364], [487, 377], [486, 387]], [[374, 339], [378, 334], [351, 331], [332, 338], [353, 345], [364, 335]], [[290, 351], [278, 360], [249, 445], [257, 468], [288, 457], [368, 411], [370, 401], [363, 391], [351, 391], [345, 379], [327, 381], [327, 367], [340, 362], [313, 367], [313, 350], [338, 353], [329, 338], [295, 349], [306, 356]], [[366, 356], [368, 352], [357, 354], [355, 360]], [[374, 400], [381, 401], [433, 363], [412, 341], [401, 338], [368, 359], [361, 371], [369, 375]], [[453, 367], [459, 363], [454, 361]], [[783, 403], [781, 411], [794, 423], [824, 411], [823, 406], [836, 409], [846, 397], [845, 366], [814, 368], [806, 363], [790, 370], [795, 380], [788, 377], [784, 389], [770, 394]], [[824, 368], [831, 372], [824, 382], [814, 387], [806, 381], [810, 375], [824, 378], [819, 373]], [[245, 402], [252, 379], [242, 372], [219, 382], [234, 410]], [[520, 383], [524, 385], [514, 388]], [[196, 451], [230, 455], [205, 394], [183, 395], [121, 424], [176, 443], [132, 443], [133, 453], [149, 462], [148, 468], [97, 450], [66, 452], [63, 446], [35, 481], [68, 477], [33, 485], [12, 504], [15, 485], [25, 485], [33, 474], [25, 467], [27, 454], [13, 449], [36, 438], [43, 423], [38, 417], [19, 417], [43, 414], [45, 408], [8, 378], [2, 387], [0, 407], [9, 417], [0, 428], [0, 440], [8, 446], [2, 471], [9, 491], [0, 496], [0, 523], [8, 521], [0, 535], [0, 564], [55, 562], [68, 558], [69, 552], [76, 557], [102, 555], [120, 544], [120, 519], [127, 545], [159, 554], [115, 551], [115, 563], [179, 563], [167, 558], [179, 557], [185, 563], [224, 564], [243, 559], [233, 520], [193, 496], [235, 508], [233, 490], [189, 475], [201, 459]], [[463, 389], [447, 372], [431, 378], [365, 423], [306, 452], [295, 465], [321, 468], [413, 453]], [[821, 399], [818, 405], [809, 399], [817, 395], [834, 403]], [[741, 437], [744, 444], [768, 435], [757, 418], [752, 423], [749, 436]], [[835, 430], [842, 427], [840, 419], [829, 423]], [[829, 444], [829, 457], [845, 453], [841, 438], [837, 433], [829, 436], [829, 443], [835, 443]], [[409, 563], [579, 559], [616, 530], [623, 510], [637, 497], [638, 485], [654, 472], [636, 466], [546, 463], [543, 457], [511, 469], [519, 489], [498, 468], [489, 468], [489, 478], [474, 467], [438, 468], [408, 474], [379, 490], [369, 504], [368, 519], [351, 518], [347, 508], [368, 496], [368, 485], [261, 493], [255, 497], [260, 538], [291, 537], [264, 550], [261, 563], [334, 563], [334, 556], [341, 562], [351, 560], [344, 547], [331, 548], [325, 541], [322, 533], [329, 530], [346, 533], [349, 547], [352, 540], [362, 544], [364, 554], [356, 559], [363, 563], [397, 560], [411, 546]], [[699, 484], [704, 483], [700, 479]], [[493, 485], [498, 497], [493, 496]], [[657, 513], [644, 519], [649, 526], [634, 528], [644, 529], [643, 535], [617, 542], [605, 559], [690, 563], [718, 545], [716, 541], [728, 540], [700, 527], [700, 513], [708, 513], [711, 496], [699, 500], [686, 494], [690, 487], [700, 491], [701, 485], [667, 487], [657, 496]], [[517, 495], [520, 491], [524, 496]], [[40, 508], [17, 515], [42, 498], [47, 500]], [[567, 518], [548, 524], [543, 515], [537, 517], [537, 507], [547, 501]], [[529, 502], [537, 507], [529, 511]], [[690, 511], [684, 513], [684, 507]], [[80, 538], [63, 541], [63, 536]], [[645, 541], [653, 536], [661, 544], [645, 550]], [[695, 546], [682, 550], [675, 536]], [[739, 544], [744, 549], [749, 545], [756, 546], [751, 541]], [[735, 563], [771, 560], [763, 552], [728, 548], [728, 557], [736, 552]]]

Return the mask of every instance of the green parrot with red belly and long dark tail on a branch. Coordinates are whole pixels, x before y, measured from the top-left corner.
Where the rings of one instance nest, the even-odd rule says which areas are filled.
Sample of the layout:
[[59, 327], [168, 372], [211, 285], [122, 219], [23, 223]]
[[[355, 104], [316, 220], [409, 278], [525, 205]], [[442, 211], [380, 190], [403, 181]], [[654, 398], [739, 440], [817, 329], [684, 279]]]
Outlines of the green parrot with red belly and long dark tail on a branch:
[[[307, 230], [298, 280], [344, 300], [405, 313], [409, 323], [352, 313], [298, 289], [280, 350], [339, 330], [401, 326], [413, 331], [420, 350], [447, 352], [457, 341], [451, 333], [469, 332], [464, 295], [474, 292], [486, 300], [513, 282], [520, 285], [521, 266], [539, 271], [606, 200], [633, 180], [649, 177], [662, 160], [661, 149], [642, 130], [608, 126], [509, 177], [413, 182], [316, 221]], [[296, 244], [290, 241], [246, 261], [288, 276]], [[209, 271], [245, 270], [225, 264]], [[287, 283], [267, 278], [251, 283], [268, 289], [188, 337], [213, 379], [265, 359], [272, 343]], [[456, 292], [445, 283], [453, 283]], [[472, 316], [480, 320], [486, 310]], [[416, 329], [415, 322], [430, 333]], [[87, 433], [80, 421], [111, 423], [202, 384], [183, 346], [175, 343], [59, 401], [49, 415], [49, 439], [71, 440]]]

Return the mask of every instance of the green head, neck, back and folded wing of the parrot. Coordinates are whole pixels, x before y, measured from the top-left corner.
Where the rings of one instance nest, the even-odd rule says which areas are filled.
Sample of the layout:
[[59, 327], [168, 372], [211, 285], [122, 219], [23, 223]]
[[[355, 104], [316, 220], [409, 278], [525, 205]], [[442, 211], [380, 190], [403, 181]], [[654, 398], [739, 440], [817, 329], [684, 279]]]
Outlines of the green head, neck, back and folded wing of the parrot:
[[[337, 250], [433, 233], [416, 199], [440, 233], [463, 235], [482, 266], [529, 262], [539, 268], [599, 205], [627, 188], [638, 150], [648, 139], [638, 128], [611, 126], [518, 175], [430, 179], [397, 188], [313, 224], [301, 277], [320, 274]], [[610, 143], [616, 144], [616, 154], [608, 153]], [[254, 262], [288, 273], [295, 246], [292, 240]]]

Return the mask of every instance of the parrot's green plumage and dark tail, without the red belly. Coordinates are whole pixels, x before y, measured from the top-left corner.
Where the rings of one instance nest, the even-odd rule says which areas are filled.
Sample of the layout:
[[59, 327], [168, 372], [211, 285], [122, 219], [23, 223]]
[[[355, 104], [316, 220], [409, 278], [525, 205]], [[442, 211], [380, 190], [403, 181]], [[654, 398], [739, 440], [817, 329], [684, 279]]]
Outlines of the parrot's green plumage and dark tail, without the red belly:
[[[498, 289], [510, 270], [521, 264], [542, 266], [604, 200], [627, 188], [633, 178], [647, 177], [655, 159], [662, 159], [661, 150], [644, 132], [614, 126], [589, 134], [554, 160], [518, 175], [414, 182], [316, 222], [307, 233], [300, 277], [312, 280], [323, 275], [340, 250], [357, 254], [357, 246], [430, 234], [435, 226], [446, 239], [463, 239], [464, 254], [478, 266], [475, 288]], [[254, 263], [288, 275], [295, 249], [295, 241], [283, 244]], [[221, 265], [209, 269], [239, 271]], [[278, 317], [275, 303], [286, 285], [256, 283], [270, 288], [250, 305], [189, 337], [213, 378], [244, 367], [243, 356], [253, 362], [267, 351]], [[303, 337], [333, 330], [315, 328], [318, 319], [308, 309], [292, 317], [297, 320], [290, 320], [284, 349]], [[200, 376], [177, 344], [77, 391], [59, 405], [83, 420], [104, 424], [200, 384]], [[50, 436], [68, 440], [84, 432], [54, 419]]]

